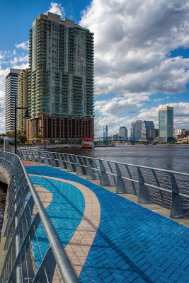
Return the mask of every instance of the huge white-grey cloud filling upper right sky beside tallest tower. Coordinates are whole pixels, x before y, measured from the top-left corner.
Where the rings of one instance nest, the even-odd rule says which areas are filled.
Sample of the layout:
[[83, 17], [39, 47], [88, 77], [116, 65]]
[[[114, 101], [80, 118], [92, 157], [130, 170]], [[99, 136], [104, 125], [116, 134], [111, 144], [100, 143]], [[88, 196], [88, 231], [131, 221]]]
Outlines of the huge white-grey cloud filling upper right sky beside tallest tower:
[[80, 25], [95, 33], [96, 93], [178, 93], [189, 81], [187, 0], [93, 0]]

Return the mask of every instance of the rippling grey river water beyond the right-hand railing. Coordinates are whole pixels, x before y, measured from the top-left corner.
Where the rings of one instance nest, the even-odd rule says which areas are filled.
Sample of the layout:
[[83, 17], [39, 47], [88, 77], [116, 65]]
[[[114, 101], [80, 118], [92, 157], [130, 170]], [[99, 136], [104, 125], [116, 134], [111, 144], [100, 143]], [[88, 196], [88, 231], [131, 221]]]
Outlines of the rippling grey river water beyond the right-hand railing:
[[56, 149], [56, 151], [189, 173], [189, 146], [124, 145], [95, 149]]

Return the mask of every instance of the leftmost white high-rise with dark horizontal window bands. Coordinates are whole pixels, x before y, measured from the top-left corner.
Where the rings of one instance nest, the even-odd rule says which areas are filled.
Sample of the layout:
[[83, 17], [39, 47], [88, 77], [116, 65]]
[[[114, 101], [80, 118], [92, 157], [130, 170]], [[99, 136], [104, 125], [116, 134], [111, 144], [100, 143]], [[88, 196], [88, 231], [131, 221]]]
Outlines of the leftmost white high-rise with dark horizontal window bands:
[[8, 69], [5, 73], [5, 132], [14, 131], [15, 103], [18, 96], [20, 69]]

